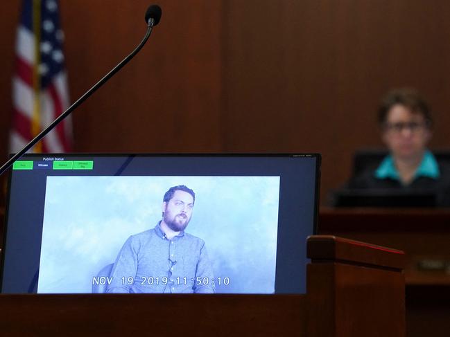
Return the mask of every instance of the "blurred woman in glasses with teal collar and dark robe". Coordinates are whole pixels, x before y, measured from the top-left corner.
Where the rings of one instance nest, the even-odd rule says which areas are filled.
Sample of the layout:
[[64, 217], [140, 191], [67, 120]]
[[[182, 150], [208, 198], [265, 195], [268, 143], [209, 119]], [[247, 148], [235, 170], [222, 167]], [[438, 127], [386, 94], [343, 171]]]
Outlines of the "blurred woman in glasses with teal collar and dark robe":
[[413, 89], [392, 90], [381, 101], [379, 125], [388, 156], [376, 170], [353, 177], [347, 188], [433, 191], [444, 206], [450, 167], [440, 165], [427, 149], [433, 125], [428, 104]]

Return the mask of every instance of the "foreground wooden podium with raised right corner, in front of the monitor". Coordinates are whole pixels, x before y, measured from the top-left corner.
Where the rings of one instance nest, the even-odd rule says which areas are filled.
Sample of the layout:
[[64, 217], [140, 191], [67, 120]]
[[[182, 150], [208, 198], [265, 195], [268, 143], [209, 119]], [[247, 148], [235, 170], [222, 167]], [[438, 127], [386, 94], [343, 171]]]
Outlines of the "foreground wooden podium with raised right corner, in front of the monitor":
[[317, 235], [306, 295], [0, 295], [0, 336], [405, 336], [404, 253]]

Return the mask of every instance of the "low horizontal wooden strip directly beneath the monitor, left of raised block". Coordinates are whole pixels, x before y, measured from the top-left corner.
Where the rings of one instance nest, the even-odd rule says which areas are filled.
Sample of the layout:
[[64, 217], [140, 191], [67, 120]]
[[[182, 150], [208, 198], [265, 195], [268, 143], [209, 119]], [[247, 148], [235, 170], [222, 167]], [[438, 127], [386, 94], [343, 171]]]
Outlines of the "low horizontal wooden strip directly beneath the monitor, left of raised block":
[[305, 336], [305, 295], [0, 295], [4, 336]]

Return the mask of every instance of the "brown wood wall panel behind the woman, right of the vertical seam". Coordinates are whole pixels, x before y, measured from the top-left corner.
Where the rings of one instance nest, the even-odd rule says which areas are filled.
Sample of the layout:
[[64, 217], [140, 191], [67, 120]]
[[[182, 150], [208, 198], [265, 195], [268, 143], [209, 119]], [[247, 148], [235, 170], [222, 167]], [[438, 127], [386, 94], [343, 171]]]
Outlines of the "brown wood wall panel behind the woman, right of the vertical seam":
[[449, 147], [448, 1], [230, 0], [225, 149], [321, 152], [322, 203], [352, 152], [379, 146], [381, 95], [415, 86], [435, 111], [433, 147]]

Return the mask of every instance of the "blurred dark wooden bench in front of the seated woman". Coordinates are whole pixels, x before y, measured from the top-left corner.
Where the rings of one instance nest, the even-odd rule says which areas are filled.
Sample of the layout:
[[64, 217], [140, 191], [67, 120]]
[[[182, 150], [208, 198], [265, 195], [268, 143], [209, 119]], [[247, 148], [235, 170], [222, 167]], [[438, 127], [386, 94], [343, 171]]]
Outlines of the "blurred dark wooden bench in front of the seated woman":
[[450, 209], [322, 208], [319, 233], [406, 253], [406, 336], [450, 334]]

